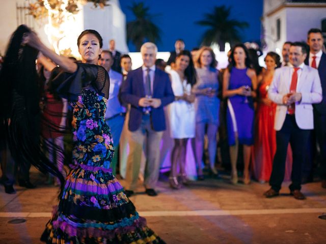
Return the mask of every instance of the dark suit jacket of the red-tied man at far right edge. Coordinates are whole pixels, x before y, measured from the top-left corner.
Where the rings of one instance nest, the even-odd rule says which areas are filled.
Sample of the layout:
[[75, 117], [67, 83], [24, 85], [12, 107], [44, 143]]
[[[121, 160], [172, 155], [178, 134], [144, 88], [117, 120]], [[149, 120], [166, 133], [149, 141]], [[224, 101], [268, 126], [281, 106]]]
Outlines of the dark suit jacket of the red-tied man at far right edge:
[[[309, 53], [305, 60], [305, 64], [309, 65]], [[319, 66], [318, 66], [318, 74], [321, 83], [322, 89], [322, 101], [320, 103], [314, 104], [314, 109], [320, 114], [326, 115], [326, 53], [322, 53]]]

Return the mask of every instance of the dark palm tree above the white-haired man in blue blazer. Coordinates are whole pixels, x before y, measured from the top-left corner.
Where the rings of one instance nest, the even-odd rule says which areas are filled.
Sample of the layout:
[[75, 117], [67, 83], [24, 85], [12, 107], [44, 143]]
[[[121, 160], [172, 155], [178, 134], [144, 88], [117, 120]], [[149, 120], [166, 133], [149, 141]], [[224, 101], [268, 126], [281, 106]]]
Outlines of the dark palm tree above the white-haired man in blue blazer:
[[131, 41], [137, 51], [146, 41], [159, 42], [160, 29], [152, 22], [154, 16], [149, 14], [149, 8], [144, 3], [133, 3], [129, 9], [136, 19], [127, 23], [127, 41]]

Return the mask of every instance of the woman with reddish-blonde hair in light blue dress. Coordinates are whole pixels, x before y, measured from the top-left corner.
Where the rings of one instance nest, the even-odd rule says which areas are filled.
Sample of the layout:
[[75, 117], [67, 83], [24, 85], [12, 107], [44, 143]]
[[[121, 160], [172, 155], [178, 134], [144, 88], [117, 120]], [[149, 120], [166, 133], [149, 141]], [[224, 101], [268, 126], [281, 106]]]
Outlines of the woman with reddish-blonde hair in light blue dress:
[[208, 139], [208, 160], [210, 172], [217, 176], [215, 168], [216, 156], [216, 133], [219, 128], [220, 99], [218, 98], [219, 71], [216, 70], [218, 62], [215, 54], [210, 47], [203, 46], [197, 54], [196, 72], [197, 82], [192, 92], [196, 95], [196, 137], [195, 154], [197, 164], [198, 179], [203, 180], [201, 168], [204, 153], [205, 128], [207, 127]]

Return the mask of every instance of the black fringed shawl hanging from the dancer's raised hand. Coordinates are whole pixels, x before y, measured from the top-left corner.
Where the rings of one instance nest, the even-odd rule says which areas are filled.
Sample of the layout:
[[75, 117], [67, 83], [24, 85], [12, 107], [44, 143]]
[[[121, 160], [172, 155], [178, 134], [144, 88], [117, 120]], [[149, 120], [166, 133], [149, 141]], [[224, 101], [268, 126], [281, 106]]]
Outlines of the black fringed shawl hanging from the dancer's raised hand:
[[[6, 142], [17, 164], [30, 162], [43, 173], [57, 176], [64, 186], [64, 177], [40, 149], [39, 88], [35, 67], [38, 50], [22, 45], [23, 35], [31, 29], [20, 25], [13, 33], [0, 72], [2, 119]], [[9, 119], [10, 118], [10, 124]], [[3, 124], [3, 123], [2, 123]]]

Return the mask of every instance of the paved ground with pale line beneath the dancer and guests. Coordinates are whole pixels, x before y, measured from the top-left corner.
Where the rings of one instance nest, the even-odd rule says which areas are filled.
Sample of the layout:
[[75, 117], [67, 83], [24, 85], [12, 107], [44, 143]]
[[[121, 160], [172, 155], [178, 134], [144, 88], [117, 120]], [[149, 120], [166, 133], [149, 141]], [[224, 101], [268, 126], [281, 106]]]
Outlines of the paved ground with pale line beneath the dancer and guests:
[[[8, 195], [0, 187], [0, 243], [40, 243], [39, 237], [57, 202], [58, 189], [42, 186], [44, 177], [32, 174], [38, 188]], [[123, 181], [122, 181], [123, 184]], [[227, 177], [194, 181], [171, 190], [161, 180], [159, 195], [145, 195], [141, 185], [131, 200], [148, 225], [167, 243], [326, 243], [326, 190], [320, 183], [303, 186], [307, 200], [288, 195], [266, 199], [267, 184], [230, 185]], [[25, 220], [20, 224], [10, 221]]]

